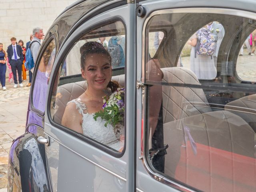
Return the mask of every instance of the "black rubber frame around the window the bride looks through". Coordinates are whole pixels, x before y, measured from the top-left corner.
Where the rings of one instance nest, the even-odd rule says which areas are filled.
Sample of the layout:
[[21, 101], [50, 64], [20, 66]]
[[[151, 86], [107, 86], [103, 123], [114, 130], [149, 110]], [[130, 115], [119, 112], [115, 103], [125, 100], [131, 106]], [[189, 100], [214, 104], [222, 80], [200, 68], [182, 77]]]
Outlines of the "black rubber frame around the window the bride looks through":
[[[122, 22], [122, 24], [124, 26], [124, 30], [125, 30], [125, 35], [127, 37], [127, 28], [126, 28], [126, 24], [125, 24], [124, 20], [122, 20], [122, 18], [119, 16], [114, 16], [114, 17], [110, 17], [107, 20], [104, 20], [102, 22], [98, 22], [97, 24], [85, 26], [84, 29], [78, 28], [77, 30], [73, 31], [73, 34], [71, 34], [69, 36], [68, 40], [70, 39], [70, 42], [68, 42], [68, 40], [66, 40], [64, 42], [64, 44], [61, 45], [60, 50], [58, 52], [58, 53], [60, 53], [61, 58], [59, 60], [54, 61], [54, 69], [52, 70], [52, 75], [50, 77], [50, 89], [48, 92], [48, 98], [47, 98], [48, 104], [47, 104], [46, 110], [47, 110], [47, 115], [48, 115], [48, 120], [49, 120], [50, 125], [58, 128], [59, 130], [66, 132], [67, 134], [69, 134], [71, 136], [78, 138], [79, 140], [82, 140], [83, 142], [86, 142], [87, 144], [89, 144], [95, 148], [98, 148], [99, 150], [101, 150], [103, 152], [106, 152], [116, 158], [121, 158], [125, 153], [126, 141], [127, 141], [127, 139], [126, 139], [126, 137], [127, 137], [126, 136], [126, 112], [125, 112], [125, 116], [124, 116], [125, 139], [124, 139], [124, 148], [123, 148], [122, 152], [115, 151], [114, 149], [110, 148], [109, 146], [106, 146], [96, 140], [93, 140], [92, 138], [90, 138], [88, 136], [80, 135], [77, 132], [74, 132], [74, 131], [54, 122], [54, 120], [52, 119], [51, 113], [50, 113], [50, 104], [51, 104], [54, 82], [56, 81], [56, 78], [59, 78], [58, 71], [59, 71], [60, 67], [62, 66], [62, 63], [64, 62], [67, 54], [70, 52], [70, 50], [76, 44], [76, 42], [78, 42], [80, 40], [80, 38], [82, 36], [84, 36], [85, 34], [89, 33], [92, 30], [95, 30], [96, 28], [99, 28], [100, 26], [104, 26], [109, 23], [114, 23], [114, 22], [118, 22], [118, 21]], [[81, 23], [80, 27], [82, 27], [83, 25], [86, 25], [86, 23]], [[125, 45], [126, 45], [125, 46], [125, 58], [127, 58], [127, 38], [125, 38]], [[125, 59], [125, 66], [122, 68], [116, 68], [116, 71], [117, 72], [119, 70], [123, 71], [126, 68], [126, 66], [127, 66], [127, 59]], [[125, 86], [126, 86], [126, 70], [124, 70], [124, 72], [125, 72], [124, 74], [125, 74]], [[69, 77], [72, 78], [72, 76], [69, 76]], [[81, 74], [74, 75], [73, 80], [71, 82], [78, 82], [79, 81], [78, 79], [82, 80], [81, 78], [82, 78]], [[126, 95], [125, 95], [125, 100], [126, 100]]]

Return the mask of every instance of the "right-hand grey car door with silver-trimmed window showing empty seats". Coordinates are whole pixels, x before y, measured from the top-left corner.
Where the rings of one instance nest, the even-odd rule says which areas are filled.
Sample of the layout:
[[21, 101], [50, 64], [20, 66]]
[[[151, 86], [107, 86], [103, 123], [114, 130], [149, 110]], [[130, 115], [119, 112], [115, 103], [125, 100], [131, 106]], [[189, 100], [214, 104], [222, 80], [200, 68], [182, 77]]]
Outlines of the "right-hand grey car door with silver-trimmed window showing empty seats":
[[[136, 190], [255, 191], [253, 62], [238, 56], [256, 28], [255, 3], [140, 6]], [[197, 48], [201, 29], [218, 36], [215, 54]]]

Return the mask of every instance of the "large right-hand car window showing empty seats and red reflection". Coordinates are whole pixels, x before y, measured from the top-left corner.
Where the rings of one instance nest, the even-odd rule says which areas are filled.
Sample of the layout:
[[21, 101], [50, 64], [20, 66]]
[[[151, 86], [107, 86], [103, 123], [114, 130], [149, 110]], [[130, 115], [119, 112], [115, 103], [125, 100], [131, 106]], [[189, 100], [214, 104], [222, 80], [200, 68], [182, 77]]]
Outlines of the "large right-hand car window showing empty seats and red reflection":
[[[211, 24], [222, 33], [220, 44]], [[255, 190], [256, 86], [253, 73], [244, 82], [238, 72], [254, 63], [242, 64], [238, 56], [255, 26], [240, 16], [189, 12], [148, 21], [144, 151], [149, 167], [164, 179], [201, 191]], [[156, 29], [164, 38], [151, 57]], [[202, 63], [193, 63], [195, 57]]]

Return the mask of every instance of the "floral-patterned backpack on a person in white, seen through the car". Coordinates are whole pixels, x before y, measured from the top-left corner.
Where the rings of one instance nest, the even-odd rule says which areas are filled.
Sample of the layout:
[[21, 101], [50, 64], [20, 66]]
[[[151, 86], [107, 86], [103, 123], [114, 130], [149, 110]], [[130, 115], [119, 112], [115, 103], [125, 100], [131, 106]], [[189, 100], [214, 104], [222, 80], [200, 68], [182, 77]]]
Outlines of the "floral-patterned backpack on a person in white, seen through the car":
[[195, 47], [196, 54], [211, 56], [214, 53], [215, 39], [208, 28], [201, 28], [197, 32], [197, 43]]

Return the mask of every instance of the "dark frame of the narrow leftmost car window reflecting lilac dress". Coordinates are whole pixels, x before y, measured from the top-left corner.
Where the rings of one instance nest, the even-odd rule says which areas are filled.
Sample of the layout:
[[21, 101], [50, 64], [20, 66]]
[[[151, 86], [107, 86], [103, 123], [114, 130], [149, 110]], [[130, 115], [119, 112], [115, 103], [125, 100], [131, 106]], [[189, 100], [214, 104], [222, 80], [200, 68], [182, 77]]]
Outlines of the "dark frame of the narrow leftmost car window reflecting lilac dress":
[[[52, 40], [54, 40], [55, 43], [55, 48], [57, 46], [56, 44], [56, 37], [52, 34], [51, 36], [49, 36], [49, 38], [47, 40], [45, 40], [43, 47], [40, 47], [39, 51], [38, 51], [38, 58], [36, 59], [36, 64], [35, 64], [35, 70], [33, 72], [33, 78], [32, 78], [32, 85], [31, 85], [31, 89], [30, 89], [30, 110], [35, 112], [37, 115], [39, 115], [40, 117], [44, 117], [45, 114], [45, 110], [44, 112], [38, 110], [37, 108], [34, 107], [34, 102], [33, 102], [33, 93], [34, 93], [34, 85], [35, 85], [35, 80], [36, 80], [36, 75], [38, 68], [39, 68], [39, 63], [42, 59], [42, 56], [44, 54], [44, 52], [46, 51], [46, 49], [48, 48], [50, 42], [52, 42]], [[55, 58], [57, 56], [57, 52], [55, 53], [55, 57], [54, 57], [54, 62], [55, 62]], [[50, 84], [48, 84], [48, 89], [49, 89]], [[48, 92], [47, 92], [48, 93]], [[46, 95], [46, 99], [47, 99], [47, 95]]]

